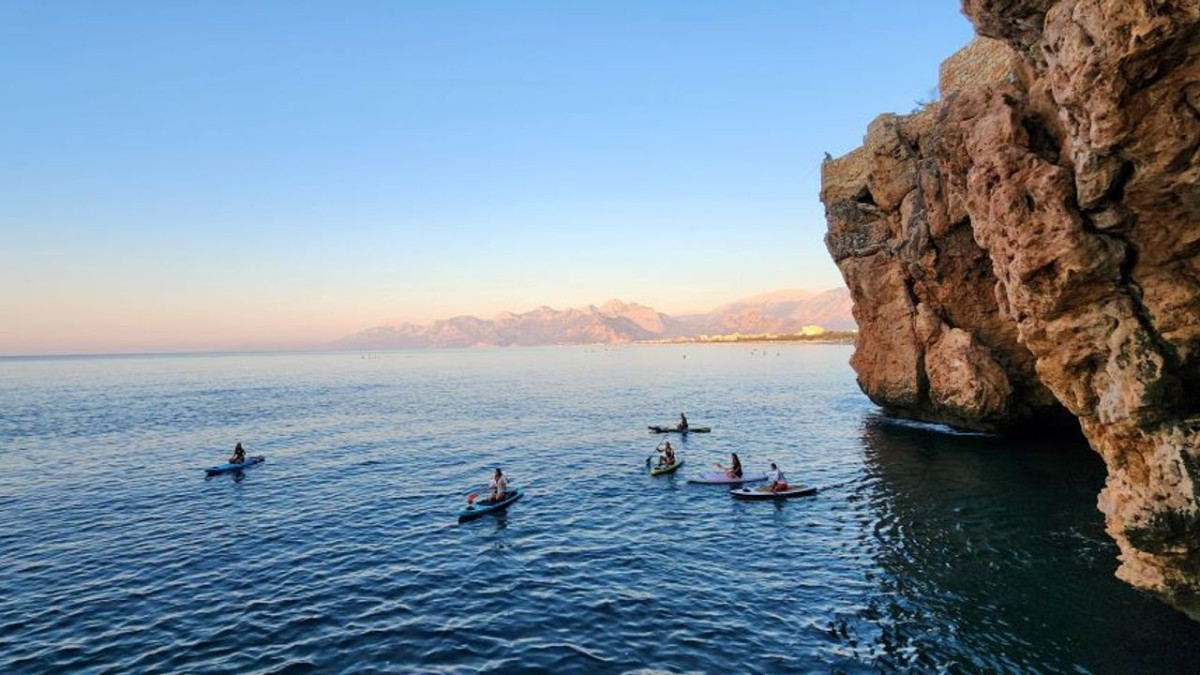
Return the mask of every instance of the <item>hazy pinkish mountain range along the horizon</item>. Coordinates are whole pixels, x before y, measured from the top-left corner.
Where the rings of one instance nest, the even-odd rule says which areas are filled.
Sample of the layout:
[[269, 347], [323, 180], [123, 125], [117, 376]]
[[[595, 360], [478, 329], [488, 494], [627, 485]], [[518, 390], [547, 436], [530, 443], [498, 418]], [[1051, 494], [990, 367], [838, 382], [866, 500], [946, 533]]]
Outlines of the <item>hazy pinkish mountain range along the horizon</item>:
[[492, 318], [458, 316], [428, 325], [379, 325], [338, 340], [342, 348], [482, 347], [594, 345], [697, 338], [700, 335], [788, 334], [805, 325], [853, 330], [850, 291], [774, 291], [721, 305], [708, 313], [670, 316], [638, 305], [608, 300], [596, 306], [556, 310], [546, 306]]

